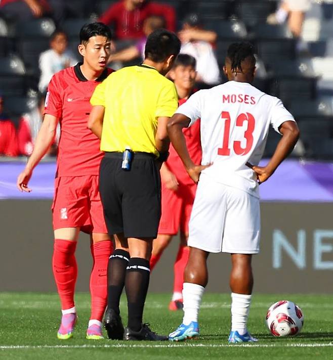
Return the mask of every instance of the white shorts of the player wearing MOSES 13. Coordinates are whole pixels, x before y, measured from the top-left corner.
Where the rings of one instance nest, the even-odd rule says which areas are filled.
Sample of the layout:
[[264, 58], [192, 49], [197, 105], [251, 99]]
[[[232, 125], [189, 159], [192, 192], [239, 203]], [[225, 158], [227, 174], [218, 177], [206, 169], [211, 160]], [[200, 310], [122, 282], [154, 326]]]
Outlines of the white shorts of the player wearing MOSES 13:
[[259, 242], [259, 199], [201, 174], [188, 245], [209, 252], [257, 254]]

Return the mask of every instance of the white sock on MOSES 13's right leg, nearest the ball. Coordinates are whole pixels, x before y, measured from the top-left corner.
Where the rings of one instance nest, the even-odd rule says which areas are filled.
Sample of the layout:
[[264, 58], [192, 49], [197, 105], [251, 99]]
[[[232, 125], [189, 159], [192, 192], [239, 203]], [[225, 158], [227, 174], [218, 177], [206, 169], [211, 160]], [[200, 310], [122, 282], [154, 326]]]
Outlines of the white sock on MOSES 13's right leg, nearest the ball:
[[238, 331], [239, 335], [244, 335], [247, 331], [251, 295], [231, 293], [231, 299], [231, 331]]

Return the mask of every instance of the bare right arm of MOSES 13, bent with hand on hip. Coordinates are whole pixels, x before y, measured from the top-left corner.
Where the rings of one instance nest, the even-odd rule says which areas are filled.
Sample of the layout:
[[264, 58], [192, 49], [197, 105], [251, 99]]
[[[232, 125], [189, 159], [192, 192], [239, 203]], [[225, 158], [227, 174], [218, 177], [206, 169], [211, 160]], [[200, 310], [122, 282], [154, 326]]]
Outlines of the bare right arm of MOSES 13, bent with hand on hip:
[[279, 127], [282, 138], [266, 166], [251, 166], [257, 173], [259, 184], [265, 182], [277, 169], [280, 163], [293, 151], [299, 137], [300, 130], [295, 121], [285, 121]]

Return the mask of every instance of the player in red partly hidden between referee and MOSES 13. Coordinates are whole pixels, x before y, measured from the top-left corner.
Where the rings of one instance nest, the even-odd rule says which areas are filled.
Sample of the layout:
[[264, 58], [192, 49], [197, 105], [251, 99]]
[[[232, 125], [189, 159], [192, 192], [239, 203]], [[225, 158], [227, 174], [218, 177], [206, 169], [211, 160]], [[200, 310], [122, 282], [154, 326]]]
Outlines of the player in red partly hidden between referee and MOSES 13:
[[[185, 103], [193, 92], [196, 77], [195, 67], [196, 61], [192, 56], [179, 54], [169, 73], [177, 89], [179, 105]], [[192, 160], [195, 159], [197, 161], [195, 163], [199, 164], [201, 162], [200, 121], [197, 121], [194, 126], [185, 129], [184, 136]], [[163, 163], [160, 170], [162, 215], [159, 222], [158, 236], [153, 242], [150, 268], [153, 269], [163, 250], [180, 230], [179, 250], [174, 265], [174, 294], [169, 305], [170, 310], [177, 310], [183, 308], [184, 268], [189, 255], [187, 246], [188, 221], [194, 201], [196, 184], [187, 174], [180, 157], [172, 145], [169, 152], [169, 158]]]

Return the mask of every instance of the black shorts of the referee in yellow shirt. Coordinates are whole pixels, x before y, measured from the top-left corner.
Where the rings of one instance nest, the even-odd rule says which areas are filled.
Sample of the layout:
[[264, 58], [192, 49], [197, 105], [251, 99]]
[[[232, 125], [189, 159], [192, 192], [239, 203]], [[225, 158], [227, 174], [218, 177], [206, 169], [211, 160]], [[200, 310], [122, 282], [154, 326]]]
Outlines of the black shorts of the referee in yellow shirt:
[[108, 233], [127, 238], [156, 238], [161, 216], [161, 183], [155, 157], [134, 153], [130, 171], [122, 153], [105, 153], [99, 190]]

